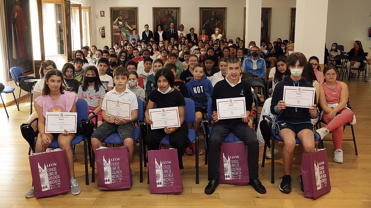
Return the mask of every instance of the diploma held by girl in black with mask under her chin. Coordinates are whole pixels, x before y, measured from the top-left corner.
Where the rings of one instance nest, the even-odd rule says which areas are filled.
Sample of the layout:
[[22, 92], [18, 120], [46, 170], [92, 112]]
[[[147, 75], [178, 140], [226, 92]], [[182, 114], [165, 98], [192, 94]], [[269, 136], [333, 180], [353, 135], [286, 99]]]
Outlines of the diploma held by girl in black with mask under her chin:
[[178, 107], [149, 109], [151, 129], [180, 127]]

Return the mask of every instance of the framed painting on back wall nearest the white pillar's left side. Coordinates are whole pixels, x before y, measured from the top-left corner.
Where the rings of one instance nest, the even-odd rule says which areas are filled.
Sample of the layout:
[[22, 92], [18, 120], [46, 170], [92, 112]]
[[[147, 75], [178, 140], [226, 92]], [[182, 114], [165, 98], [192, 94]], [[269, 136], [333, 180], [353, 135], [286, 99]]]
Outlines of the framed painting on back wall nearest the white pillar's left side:
[[200, 30], [205, 29], [209, 37], [218, 27], [220, 34], [226, 37], [227, 7], [200, 7]]

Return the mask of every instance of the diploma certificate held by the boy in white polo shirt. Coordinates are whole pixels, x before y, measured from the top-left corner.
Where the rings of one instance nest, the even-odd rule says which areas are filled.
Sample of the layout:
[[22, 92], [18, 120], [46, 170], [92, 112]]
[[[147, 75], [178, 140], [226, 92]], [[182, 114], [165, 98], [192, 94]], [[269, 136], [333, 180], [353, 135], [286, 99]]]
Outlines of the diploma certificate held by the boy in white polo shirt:
[[106, 114], [131, 120], [131, 103], [121, 100], [106, 100]]

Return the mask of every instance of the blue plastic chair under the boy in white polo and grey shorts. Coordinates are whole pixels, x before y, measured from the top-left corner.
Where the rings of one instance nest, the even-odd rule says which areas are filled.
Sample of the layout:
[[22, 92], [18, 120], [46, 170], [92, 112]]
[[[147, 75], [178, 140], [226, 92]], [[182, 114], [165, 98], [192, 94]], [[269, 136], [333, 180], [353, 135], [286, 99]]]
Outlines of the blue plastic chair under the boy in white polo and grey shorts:
[[[134, 123], [138, 123], [139, 125], [139, 122], [140, 121], [143, 121], [143, 102], [141, 99], [137, 98], [137, 101], [138, 101], [138, 118], [137, 120], [134, 121]], [[140, 163], [140, 167], [139, 167], [139, 174], [140, 174], [140, 180], [139, 182], [143, 182], [143, 158], [142, 158], [142, 134], [141, 134], [141, 131], [140, 131], [140, 128], [134, 128], [134, 141], [137, 141], [139, 139], [139, 163]], [[113, 133], [111, 135], [109, 135], [106, 140], [103, 141], [103, 143], [105, 144], [112, 144], [112, 145], [122, 145], [124, 143], [122, 143], [121, 141], [121, 138], [120, 138], [120, 135], [118, 133]], [[94, 152], [92, 152], [92, 182], [95, 182], [95, 154]]]

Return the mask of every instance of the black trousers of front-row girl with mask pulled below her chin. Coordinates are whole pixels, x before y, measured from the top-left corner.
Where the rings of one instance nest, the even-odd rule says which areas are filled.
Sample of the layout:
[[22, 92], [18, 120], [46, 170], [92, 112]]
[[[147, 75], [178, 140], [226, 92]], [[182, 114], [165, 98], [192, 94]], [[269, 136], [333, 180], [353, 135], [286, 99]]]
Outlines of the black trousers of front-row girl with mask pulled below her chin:
[[[158, 150], [162, 138], [167, 135], [163, 128], [152, 130], [149, 126], [148, 133], [145, 135], [144, 140], [147, 144], [148, 150]], [[179, 168], [184, 169], [182, 157], [185, 149], [191, 144], [188, 139], [188, 127], [185, 122], [173, 133], [170, 134], [170, 145], [178, 151]]]

